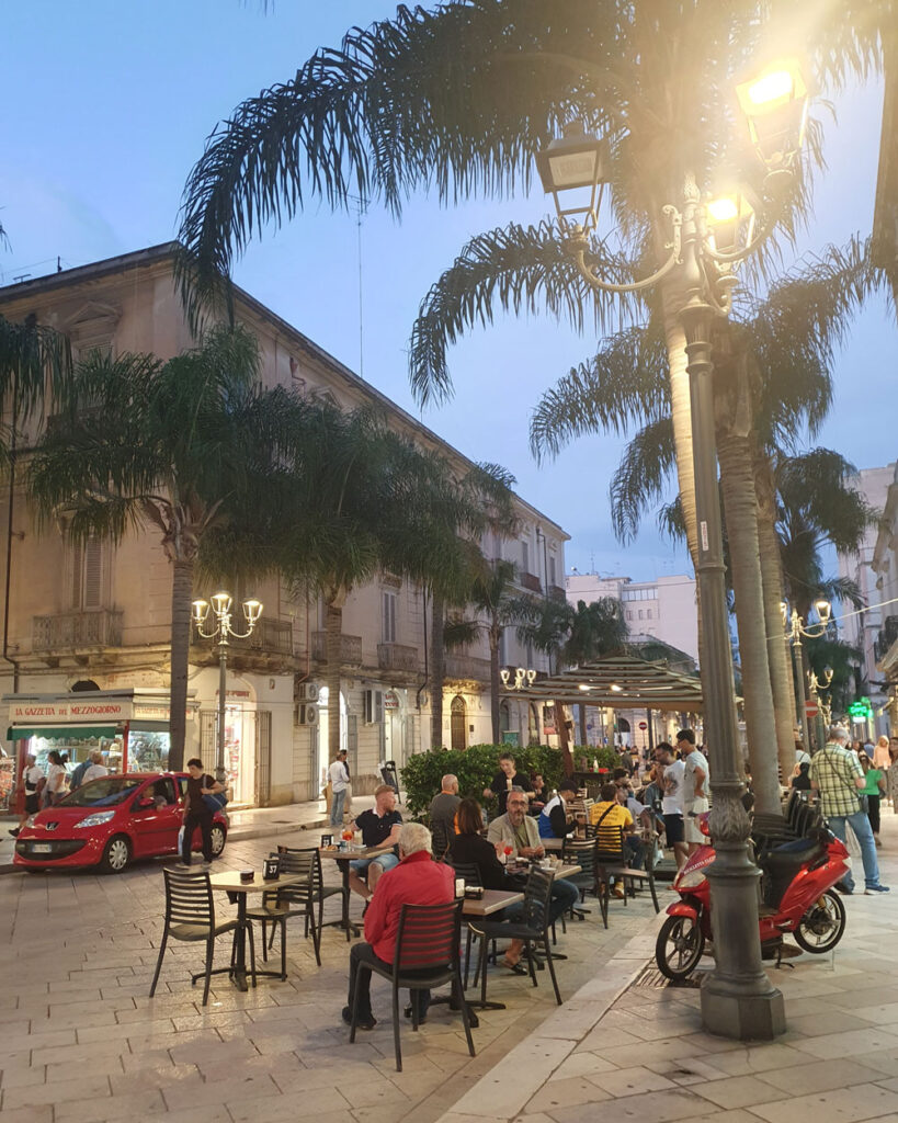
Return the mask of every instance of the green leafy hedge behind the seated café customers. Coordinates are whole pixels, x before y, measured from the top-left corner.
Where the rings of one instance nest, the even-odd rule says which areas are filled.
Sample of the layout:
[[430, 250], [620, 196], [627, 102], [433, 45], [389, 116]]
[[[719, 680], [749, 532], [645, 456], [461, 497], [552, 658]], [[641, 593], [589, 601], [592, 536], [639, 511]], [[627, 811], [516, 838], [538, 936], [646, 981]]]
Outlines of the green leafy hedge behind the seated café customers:
[[[495, 811], [495, 801], [484, 801], [483, 793], [498, 772], [498, 758], [503, 752], [514, 754], [519, 773], [525, 776], [530, 776], [532, 772], [541, 773], [549, 791], [558, 787], [565, 775], [561, 752], [546, 745], [531, 745], [526, 748], [516, 745], [514, 748], [507, 745], [471, 745], [464, 752], [453, 749], [419, 752], [411, 757], [402, 769], [402, 788], [405, 792], [409, 811], [414, 815], [425, 812], [430, 801], [440, 791], [442, 777], [453, 774], [458, 776], [458, 794], [473, 796], [482, 804], [486, 802], [492, 814]], [[592, 759], [590, 756], [589, 760]]]

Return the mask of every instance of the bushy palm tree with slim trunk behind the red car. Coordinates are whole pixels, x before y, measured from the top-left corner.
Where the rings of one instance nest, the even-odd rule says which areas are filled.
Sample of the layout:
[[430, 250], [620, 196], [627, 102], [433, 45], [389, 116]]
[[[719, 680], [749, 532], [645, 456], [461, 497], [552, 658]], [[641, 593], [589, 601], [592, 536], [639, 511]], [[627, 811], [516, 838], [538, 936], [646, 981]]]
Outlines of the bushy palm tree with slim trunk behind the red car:
[[172, 565], [172, 768], [184, 757], [198, 551], [266, 447], [257, 373], [255, 338], [241, 329], [213, 330], [167, 362], [94, 351], [61, 386], [28, 471], [43, 518], [62, 514], [76, 542], [120, 541], [135, 527], [159, 536]]

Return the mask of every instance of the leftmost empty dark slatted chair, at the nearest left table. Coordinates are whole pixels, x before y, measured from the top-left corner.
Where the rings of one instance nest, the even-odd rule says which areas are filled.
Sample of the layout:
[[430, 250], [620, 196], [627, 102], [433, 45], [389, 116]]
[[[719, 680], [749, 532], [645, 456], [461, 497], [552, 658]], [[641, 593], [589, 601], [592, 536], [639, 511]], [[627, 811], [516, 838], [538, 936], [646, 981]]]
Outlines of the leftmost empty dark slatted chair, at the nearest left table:
[[[205, 969], [196, 975], [191, 975], [191, 984], [203, 976], [205, 977], [203, 988], [203, 1006], [205, 1006], [209, 1002], [209, 984], [212, 976], [230, 971], [233, 966], [233, 951], [231, 951], [231, 967], [219, 967], [217, 970], [212, 970], [216, 939], [226, 932], [236, 932], [241, 923], [237, 919], [216, 920], [216, 904], [209, 874], [187, 874], [180, 869], [163, 869], [163, 877], [165, 878], [165, 926], [162, 932], [159, 958], [156, 960], [156, 971], [149, 988], [149, 997], [152, 998], [156, 993], [163, 956], [171, 937], [173, 940], [184, 940], [190, 943], [205, 943]], [[253, 986], [255, 986], [256, 948], [253, 942], [253, 925], [247, 924], [246, 928], [249, 932], [250, 974]]]

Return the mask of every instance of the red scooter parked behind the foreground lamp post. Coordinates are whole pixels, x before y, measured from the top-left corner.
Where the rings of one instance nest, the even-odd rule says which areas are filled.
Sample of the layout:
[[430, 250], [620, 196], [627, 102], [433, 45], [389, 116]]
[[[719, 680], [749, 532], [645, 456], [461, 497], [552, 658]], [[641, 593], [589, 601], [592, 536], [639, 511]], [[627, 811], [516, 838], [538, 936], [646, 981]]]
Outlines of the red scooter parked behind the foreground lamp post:
[[[707, 813], [699, 816], [705, 836], [707, 818]], [[711, 939], [711, 884], [706, 870], [714, 857], [709, 842], [700, 846], [674, 878], [680, 900], [668, 907], [654, 946], [656, 962], [669, 979], [688, 978], [698, 966], [705, 940]], [[830, 951], [839, 943], [845, 931], [845, 906], [833, 886], [847, 873], [847, 857], [844, 843], [825, 827], [761, 853], [758, 865], [763, 903], [758, 922], [762, 947], [778, 944], [787, 932], [800, 948], [815, 953]]]

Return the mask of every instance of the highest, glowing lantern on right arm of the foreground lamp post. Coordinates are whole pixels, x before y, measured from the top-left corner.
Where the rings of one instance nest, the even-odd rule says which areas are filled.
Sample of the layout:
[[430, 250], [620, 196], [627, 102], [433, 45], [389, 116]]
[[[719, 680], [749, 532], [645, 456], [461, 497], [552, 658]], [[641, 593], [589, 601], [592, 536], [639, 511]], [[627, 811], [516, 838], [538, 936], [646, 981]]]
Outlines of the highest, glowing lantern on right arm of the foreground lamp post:
[[808, 92], [797, 58], [779, 58], [736, 86], [754, 149], [775, 175], [789, 172], [801, 148]]

